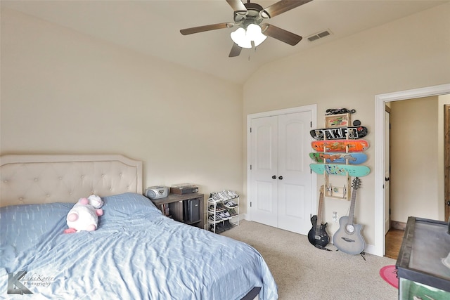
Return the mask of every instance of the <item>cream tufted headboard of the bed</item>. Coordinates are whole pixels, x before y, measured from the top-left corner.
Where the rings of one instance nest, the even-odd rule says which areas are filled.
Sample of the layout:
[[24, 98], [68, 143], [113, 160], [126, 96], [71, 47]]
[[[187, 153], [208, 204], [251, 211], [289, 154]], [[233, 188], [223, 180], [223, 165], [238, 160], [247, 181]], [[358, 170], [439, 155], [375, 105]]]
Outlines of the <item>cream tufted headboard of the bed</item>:
[[142, 194], [142, 162], [122, 155], [3, 155], [0, 207]]

